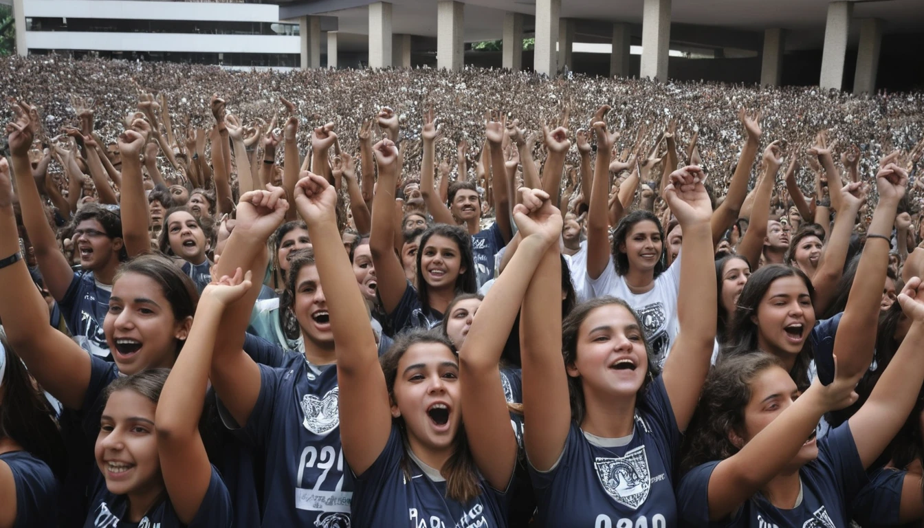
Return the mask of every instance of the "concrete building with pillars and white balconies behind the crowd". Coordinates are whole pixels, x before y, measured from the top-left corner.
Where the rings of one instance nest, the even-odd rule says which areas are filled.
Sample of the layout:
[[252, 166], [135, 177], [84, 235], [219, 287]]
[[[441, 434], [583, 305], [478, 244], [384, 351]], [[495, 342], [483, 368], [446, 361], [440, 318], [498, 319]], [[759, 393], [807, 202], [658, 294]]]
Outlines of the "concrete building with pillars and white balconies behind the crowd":
[[[906, 58], [924, 53], [921, 0], [0, 2], [14, 7], [20, 55], [92, 52], [244, 68], [470, 64], [857, 93], [924, 86], [924, 73]], [[524, 39], [534, 44], [524, 49]], [[471, 47], [484, 42], [499, 45]]]

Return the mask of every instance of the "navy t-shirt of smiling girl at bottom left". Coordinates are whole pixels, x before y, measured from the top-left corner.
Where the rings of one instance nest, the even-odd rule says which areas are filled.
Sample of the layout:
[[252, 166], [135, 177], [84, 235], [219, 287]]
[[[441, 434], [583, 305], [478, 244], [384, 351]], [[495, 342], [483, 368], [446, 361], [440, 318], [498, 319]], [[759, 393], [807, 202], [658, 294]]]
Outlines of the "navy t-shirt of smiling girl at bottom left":
[[113, 495], [106, 489], [103, 475], [96, 470], [93, 475], [93, 495], [90, 502], [90, 513], [84, 528], [230, 528], [231, 527], [231, 497], [221, 475], [212, 467], [212, 479], [209, 480], [209, 489], [202, 498], [202, 504], [192, 522], [183, 524], [176, 517], [176, 510], [170, 503], [169, 497], [155, 504], [140, 522], [123, 521], [122, 516], [128, 510], [128, 497]]

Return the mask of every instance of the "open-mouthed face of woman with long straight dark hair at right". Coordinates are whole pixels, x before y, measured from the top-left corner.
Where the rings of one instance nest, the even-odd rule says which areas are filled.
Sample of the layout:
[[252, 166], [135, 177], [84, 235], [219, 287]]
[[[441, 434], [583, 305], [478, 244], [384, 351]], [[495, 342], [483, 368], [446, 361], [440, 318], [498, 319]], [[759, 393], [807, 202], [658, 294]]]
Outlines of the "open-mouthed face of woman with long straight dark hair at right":
[[788, 364], [787, 359], [791, 362], [815, 325], [815, 309], [806, 283], [798, 276], [774, 280], [751, 320], [758, 325], [760, 350], [771, 352], [784, 364]]

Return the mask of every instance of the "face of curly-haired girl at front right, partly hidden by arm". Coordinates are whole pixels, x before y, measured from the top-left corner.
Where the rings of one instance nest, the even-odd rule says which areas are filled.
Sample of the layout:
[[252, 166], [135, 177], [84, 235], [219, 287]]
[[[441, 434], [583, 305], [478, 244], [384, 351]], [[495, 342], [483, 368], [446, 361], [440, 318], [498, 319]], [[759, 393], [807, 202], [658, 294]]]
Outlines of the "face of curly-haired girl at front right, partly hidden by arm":
[[[796, 382], [789, 376], [789, 373], [775, 365], [767, 367], [756, 375], [749, 387], [751, 399], [744, 409], [744, 424], [741, 430], [733, 433], [732, 438], [732, 443], [739, 448], [751, 441], [773, 420], [776, 420], [781, 412], [796, 401], [799, 395]], [[737, 439], [734, 436], [737, 436]], [[787, 469], [797, 470], [816, 458], [818, 458], [818, 446], [815, 443], [815, 433], [812, 432]]]

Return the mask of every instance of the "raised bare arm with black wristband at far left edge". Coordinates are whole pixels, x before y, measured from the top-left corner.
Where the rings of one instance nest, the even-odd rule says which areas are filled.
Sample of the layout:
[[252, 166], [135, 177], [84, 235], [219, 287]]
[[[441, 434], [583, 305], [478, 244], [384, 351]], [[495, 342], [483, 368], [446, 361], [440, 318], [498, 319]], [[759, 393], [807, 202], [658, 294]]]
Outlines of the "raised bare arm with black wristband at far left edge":
[[[28, 117], [28, 111], [25, 115]], [[9, 144], [14, 156], [20, 152], [20, 141], [26, 141], [24, 129], [28, 128], [28, 120], [24, 123], [21, 118], [7, 126], [7, 130], [12, 129]], [[28, 136], [31, 137], [30, 132]], [[27, 177], [31, 180], [30, 174]], [[22, 182], [19, 184], [21, 191]], [[34, 190], [35, 182], [31, 185]], [[13, 188], [6, 158], [0, 158], [0, 255], [4, 259], [19, 255]], [[48, 305], [35, 288], [21, 255], [18, 262], [0, 267], [0, 284], [4, 285], [0, 288], [0, 320], [10, 346], [17, 350], [39, 385], [68, 409], [81, 409], [90, 385], [90, 355], [48, 325]]]

